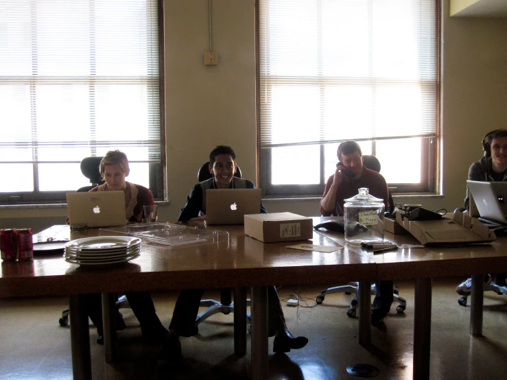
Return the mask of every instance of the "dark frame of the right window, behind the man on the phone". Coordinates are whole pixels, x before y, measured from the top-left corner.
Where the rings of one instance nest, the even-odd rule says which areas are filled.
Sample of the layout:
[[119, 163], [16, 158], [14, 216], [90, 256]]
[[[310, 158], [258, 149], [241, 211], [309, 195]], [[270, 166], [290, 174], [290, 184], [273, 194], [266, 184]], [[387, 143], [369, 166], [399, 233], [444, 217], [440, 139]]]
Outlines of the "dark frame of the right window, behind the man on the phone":
[[[435, 132], [421, 138], [421, 182], [418, 184], [388, 182], [390, 192], [394, 195], [436, 195], [440, 185], [440, 71], [441, 71], [441, 43], [442, 43], [442, 5], [435, 1], [435, 76], [436, 76], [436, 97], [435, 97]], [[324, 193], [328, 178], [325, 178], [325, 143], [320, 143], [320, 183], [315, 185], [272, 185], [271, 156], [272, 147], [261, 147], [261, 67], [260, 67], [260, 0], [255, 0], [255, 67], [256, 67], [256, 112], [257, 112], [257, 178], [258, 185], [262, 189], [263, 198], [321, 198]], [[380, 140], [380, 139], [378, 139]], [[359, 140], [356, 140], [359, 141]], [[372, 154], [375, 155], [375, 141], [372, 143]], [[336, 143], [338, 141], [329, 141]], [[298, 144], [283, 144], [284, 146], [295, 146]], [[406, 152], [399, 147], [399, 154], [403, 156]]]

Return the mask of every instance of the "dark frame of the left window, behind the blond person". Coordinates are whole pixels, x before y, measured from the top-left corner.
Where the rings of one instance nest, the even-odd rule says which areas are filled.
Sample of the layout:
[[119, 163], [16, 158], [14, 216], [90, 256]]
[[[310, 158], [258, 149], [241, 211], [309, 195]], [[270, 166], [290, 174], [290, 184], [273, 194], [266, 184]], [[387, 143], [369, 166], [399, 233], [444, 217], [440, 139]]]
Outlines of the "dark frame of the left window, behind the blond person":
[[[160, 145], [161, 145], [161, 161], [158, 163], [149, 162], [149, 188], [154, 195], [155, 200], [167, 200], [167, 183], [166, 178], [166, 152], [165, 152], [165, 62], [164, 62], [164, 0], [156, 0], [157, 22], [158, 22], [158, 110], [159, 110], [159, 126], [160, 128]], [[8, 78], [8, 77], [7, 77]], [[89, 156], [97, 156], [94, 147], [91, 147]], [[84, 158], [84, 157], [83, 157]], [[130, 161], [136, 163], [139, 161]], [[12, 162], [11, 162], [12, 163]], [[15, 162], [14, 162], [15, 163]], [[38, 189], [38, 164], [46, 163], [37, 161], [33, 165], [33, 181], [34, 191], [16, 191], [16, 192], [0, 192], [0, 204], [64, 204], [67, 202], [66, 194], [69, 191], [40, 191]], [[80, 161], [56, 161], [51, 163], [75, 163]], [[61, 174], [55, 173], [56, 180], [61, 180]], [[83, 177], [83, 185], [86, 185], [87, 178]]]

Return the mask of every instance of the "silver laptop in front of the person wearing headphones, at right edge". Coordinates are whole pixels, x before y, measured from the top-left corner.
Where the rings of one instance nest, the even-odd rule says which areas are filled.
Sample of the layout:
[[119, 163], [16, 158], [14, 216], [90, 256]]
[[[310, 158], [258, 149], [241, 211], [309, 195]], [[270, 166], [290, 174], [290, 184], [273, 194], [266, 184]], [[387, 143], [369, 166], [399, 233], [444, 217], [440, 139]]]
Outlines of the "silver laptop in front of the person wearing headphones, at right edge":
[[507, 182], [467, 180], [470, 190], [470, 215], [486, 221], [506, 224]]

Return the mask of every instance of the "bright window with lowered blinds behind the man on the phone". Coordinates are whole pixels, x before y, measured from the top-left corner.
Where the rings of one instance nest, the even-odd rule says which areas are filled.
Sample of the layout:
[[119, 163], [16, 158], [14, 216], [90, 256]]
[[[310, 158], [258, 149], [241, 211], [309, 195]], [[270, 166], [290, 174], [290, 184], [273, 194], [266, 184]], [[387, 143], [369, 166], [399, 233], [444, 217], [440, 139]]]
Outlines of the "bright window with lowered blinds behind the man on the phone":
[[264, 195], [322, 195], [341, 141], [392, 193], [434, 193], [438, 1], [259, 0]]

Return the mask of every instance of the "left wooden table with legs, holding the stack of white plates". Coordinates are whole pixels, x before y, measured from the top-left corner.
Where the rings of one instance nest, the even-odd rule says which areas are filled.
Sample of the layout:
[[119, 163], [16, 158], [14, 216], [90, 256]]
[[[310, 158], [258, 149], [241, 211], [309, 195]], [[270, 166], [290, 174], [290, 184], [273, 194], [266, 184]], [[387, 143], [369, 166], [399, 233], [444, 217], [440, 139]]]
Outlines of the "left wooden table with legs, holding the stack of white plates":
[[[89, 379], [89, 325], [82, 307], [82, 294], [252, 287], [252, 379], [266, 379], [268, 285], [375, 278], [376, 265], [366, 255], [346, 253], [341, 246], [318, 233], [314, 234], [314, 244], [337, 246], [337, 251], [310, 252], [286, 248], [287, 243], [263, 244], [245, 236], [243, 226], [221, 226], [224, 228], [230, 234], [229, 241], [178, 249], [143, 244], [139, 258], [111, 268], [80, 268], [64, 261], [61, 255], [36, 257], [25, 262], [4, 261], [0, 297], [70, 295], [73, 374], [75, 379]], [[72, 232], [71, 239], [97, 236], [97, 233], [96, 229]], [[106, 297], [105, 314], [112, 309], [112, 301], [113, 298]], [[114, 342], [106, 343], [109, 341], [106, 335], [114, 331], [114, 318], [110, 318], [114, 313], [108, 314], [104, 323], [104, 343], [114, 348]], [[241, 314], [241, 311], [235, 313]], [[108, 349], [106, 347], [106, 354]]]

